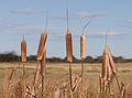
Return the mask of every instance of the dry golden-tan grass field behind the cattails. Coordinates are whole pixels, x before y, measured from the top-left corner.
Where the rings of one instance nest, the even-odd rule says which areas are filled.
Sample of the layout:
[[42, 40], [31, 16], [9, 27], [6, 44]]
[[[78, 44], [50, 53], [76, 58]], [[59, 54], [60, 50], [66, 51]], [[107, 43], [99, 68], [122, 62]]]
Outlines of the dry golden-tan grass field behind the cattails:
[[[10, 74], [11, 68], [16, 65], [15, 80], [21, 78], [22, 64], [19, 63], [0, 63], [0, 98], [2, 98], [2, 88], [4, 85], [6, 77]], [[25, 64], [25, 77], [29, 85], [32, 84], [36, 63]], [[125, 98], [132, 98], [132, 63], [117, 64], [118, 66], [118, 78], [120, 83], [124, 84]], [[84, 98], [99, 98], [99, 74], [101, 64], [85, 64], [85, 77], [82, 83], [82, 95]], [[80, 74], [80, 64], [73, 64], [73, 76]], [[56, 89], [68, 81], [68, 64], [47, 64], [47, 70], [45, 76], [45, 90], [44, 98], [56, 98], [54, 97]], [[74, 78], [74, 77], [73, 77]], [[79, 88], [78, 88], [79, 89]], [[116, 83], [111, 86], [111, 98], [118, 98], [118, 87]], [[13, 91], [12, 96], [13, 97]], [[41, 98], [41, 97], [38, 97]], [[74, 94], [74, 98], [78, 98], [78, 92]]]

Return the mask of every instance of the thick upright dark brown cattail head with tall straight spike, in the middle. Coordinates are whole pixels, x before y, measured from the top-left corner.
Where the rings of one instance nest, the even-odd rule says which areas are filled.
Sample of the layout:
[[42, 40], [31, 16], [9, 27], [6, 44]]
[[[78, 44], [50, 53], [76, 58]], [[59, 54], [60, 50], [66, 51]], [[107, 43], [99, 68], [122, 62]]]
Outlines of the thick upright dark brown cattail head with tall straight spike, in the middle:
[[67, 30], [66, 33], [66, 56], [67, 56], [67, 62], [73, 62], [73, 41], [69, 30]]

